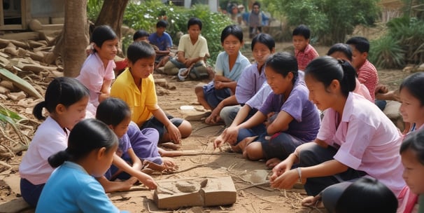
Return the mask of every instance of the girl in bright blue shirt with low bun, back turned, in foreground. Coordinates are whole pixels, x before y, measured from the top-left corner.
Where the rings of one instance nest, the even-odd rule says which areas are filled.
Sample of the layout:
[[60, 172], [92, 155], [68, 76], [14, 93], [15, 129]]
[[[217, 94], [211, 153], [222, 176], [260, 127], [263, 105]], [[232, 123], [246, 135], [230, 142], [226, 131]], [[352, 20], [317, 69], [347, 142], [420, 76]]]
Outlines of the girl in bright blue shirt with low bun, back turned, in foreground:
[[80, 121], [69, 134], [68, 147], [48, 158], [58, 167], [50, 176], [36, 212], [120, 212], [94, 179], [111, 166], [118, 138], [101, 121]]

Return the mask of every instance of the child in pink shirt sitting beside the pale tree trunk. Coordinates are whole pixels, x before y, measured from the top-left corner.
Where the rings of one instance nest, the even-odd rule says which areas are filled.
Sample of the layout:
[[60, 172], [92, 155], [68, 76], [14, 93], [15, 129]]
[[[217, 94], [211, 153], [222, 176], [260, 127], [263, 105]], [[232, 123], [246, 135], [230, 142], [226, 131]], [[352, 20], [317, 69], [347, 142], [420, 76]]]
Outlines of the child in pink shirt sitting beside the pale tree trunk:
[[93, 53], [85, 60], [76, 79], [90, 90], [87, 111], [90, 113], [89, 117], [94, 118], [99, 102], [111, 95], [111, 84], [115, 79], [113, 59], [118, 52], [118, 36], [111, 27], [101, 25], [94, 29], [90, 42]]

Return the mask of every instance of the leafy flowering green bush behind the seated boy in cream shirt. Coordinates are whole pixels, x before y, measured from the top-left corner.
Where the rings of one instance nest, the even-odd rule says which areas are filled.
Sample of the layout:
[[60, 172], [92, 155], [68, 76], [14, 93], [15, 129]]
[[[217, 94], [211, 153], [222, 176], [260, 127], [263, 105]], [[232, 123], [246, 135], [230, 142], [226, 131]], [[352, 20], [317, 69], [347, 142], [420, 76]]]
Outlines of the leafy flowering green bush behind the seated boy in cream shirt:
[[[218, 53], [222, 51], [220, 45], [220, 34], [222, 29], [232, 22], [225, 15], [212, 13], [209, 6], [196, 5], [190, 9], [170, 5], [164, 5], [159, 0], [146, 0], [142, 4], [130, 2], [125, 10], [124, 25], [132, 29], [144, 29], [148, 32], [155, 32], [157, 18], [160, 15], [167, 15], [169, 26], [167, 32], [173, 38], [174, 44], [178, 45], [177, 33], [187, 33], [187, 22], [192, 17], [202, 20], [202, 36], [208, 41], [210, 64], [215, 64]], [[127, 43], [132, 42], [132, 35], [125, 38]], [[125, 42], [123, 42], [125, 43]]]

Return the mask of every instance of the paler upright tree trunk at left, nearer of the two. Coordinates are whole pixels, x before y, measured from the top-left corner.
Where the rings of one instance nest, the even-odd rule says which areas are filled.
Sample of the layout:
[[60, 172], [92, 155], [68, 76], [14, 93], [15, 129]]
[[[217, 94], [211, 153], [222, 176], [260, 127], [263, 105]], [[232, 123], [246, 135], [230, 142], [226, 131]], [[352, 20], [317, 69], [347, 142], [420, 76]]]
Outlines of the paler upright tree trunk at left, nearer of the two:
[[64, 30], [57, 45], [64, 62], [64, 76], [76, 77], [80, 74], [88, 46], [87, 0], [65, 1]]

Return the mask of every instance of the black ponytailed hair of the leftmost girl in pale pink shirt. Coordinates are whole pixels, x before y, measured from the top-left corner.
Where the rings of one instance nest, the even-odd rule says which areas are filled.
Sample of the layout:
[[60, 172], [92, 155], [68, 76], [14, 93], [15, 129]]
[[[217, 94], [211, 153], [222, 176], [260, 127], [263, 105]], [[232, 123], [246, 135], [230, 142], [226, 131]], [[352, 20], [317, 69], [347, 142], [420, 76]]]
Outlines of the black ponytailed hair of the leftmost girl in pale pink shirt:
[[69, 107], [76, 102], [79, 102], [83, 97], [90, 97], [88, 90], [83, 83], [70, 77], [57, 77], [49, 83], [45, 90], [44, 101], [35, 105], [32, 114], [38, 120], [44, 120], [43, 107], [50, 114], [54, 114], [57, 104], [62, 104], [64, 107]]

